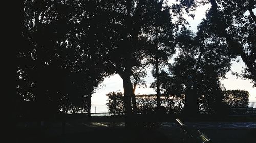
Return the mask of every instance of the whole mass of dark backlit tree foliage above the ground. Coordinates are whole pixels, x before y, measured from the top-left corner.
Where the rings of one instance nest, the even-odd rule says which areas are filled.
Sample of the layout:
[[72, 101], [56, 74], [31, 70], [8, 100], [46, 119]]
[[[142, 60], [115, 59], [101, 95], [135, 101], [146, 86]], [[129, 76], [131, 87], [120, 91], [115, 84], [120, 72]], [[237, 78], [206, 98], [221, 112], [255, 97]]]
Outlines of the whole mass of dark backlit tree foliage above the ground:
[[[211, 8], [194, 33], [184, 15], [194, 17], [192, 12], [206, 4]], [[132, 112], [155, 107], [154, 96], [135, 96], [136, 86], [145, 85], [148, 67], [156, 78], [151, 85], [156, 104], [166, 104], [169, 112], [184, 107], [196, 115], [221, 112], [225, 103], [245, 106], [248, 98], [240, 97], [248, 94], [225, 91], [219, 80], [230, 71], [231, 60], [241, 56], [246, 67], [233, 74], [256, 83], [255, 5], [252, 0], [177, 0], [170, 5], [164, 0], [25, 0], [17, 108], [34, 109], [38, 120], [60, 110], [90, 115], [95, 89], [105, 77], [118, 74], [124, 96], [108, 94], [108, 105], [113, 113], [124, 109], [128, 123]]]

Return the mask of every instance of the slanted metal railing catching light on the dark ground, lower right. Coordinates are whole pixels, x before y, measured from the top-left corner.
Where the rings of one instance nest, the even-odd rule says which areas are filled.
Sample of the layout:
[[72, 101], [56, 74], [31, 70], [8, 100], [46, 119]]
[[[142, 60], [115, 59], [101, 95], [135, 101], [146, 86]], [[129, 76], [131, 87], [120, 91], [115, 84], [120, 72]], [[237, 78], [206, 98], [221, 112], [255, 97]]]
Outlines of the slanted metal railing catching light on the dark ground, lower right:
[[182, 123], [178, 118], [176, 121], [179, 123], [181, 129], [184, 132], [184, 141], [185, 142], [193, 142], [193, 143], [210, 143], [211, 139], [207, 137], [205, 134], [200, 132], [195, 128], [189, 128], [184, 123]]

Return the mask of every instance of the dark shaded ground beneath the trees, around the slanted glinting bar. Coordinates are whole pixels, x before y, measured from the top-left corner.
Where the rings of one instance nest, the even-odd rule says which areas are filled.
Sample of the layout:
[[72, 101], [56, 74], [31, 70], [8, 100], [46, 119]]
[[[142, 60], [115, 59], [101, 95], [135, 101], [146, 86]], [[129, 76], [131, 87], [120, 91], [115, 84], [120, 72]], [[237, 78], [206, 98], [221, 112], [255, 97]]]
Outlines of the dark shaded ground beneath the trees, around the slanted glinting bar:
[[[161, 126], [156, 129], [139, 127], [127, 130], [122, 119], [114, 118], [109, 122], [108, 118], [92, 118], [91, 122], [83, 118], [68, 120], [65, 134], [62, 134], [61, 122], [46, 124], [41, 129], [36, 127], [36, 123], [19, 123], [13, 139], [14, 142], [190, 142], [174, 121], [161, 122]], [[184, 123], [199, 129], [212, 142], [251, 143], [256, 140], [256, 121]]]

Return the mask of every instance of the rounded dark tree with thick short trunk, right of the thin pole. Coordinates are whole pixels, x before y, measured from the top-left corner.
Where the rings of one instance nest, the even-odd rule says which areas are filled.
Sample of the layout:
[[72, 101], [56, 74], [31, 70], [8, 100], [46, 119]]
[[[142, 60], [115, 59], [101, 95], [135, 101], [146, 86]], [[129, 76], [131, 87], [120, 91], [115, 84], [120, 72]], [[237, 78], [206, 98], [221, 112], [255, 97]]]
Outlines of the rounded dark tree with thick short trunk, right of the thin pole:
[[[222, 38], [210, 34], [212, 31], [214, 27], [205, 19], [198, 26], [196, 36], [188, 30], [178, 33], [176, 40], [180, 53], [174, 59], [175, 62], [169, 64], [170, 72], [167, 74], [162, 71], [164, 91], [173, 90], [167, 95], [185, 93], [184, 111], [191, 115], [199, 111], [200, 96], [215, 97], [211, 101], [214, 104], [221, 102], [221, 98], [216, 97], [220, 95], [217, 91], [221, 91], [219, 79], [225, 78], [225, 73], [230, 70], [232, 56], [229, 47]], [[166, 82], [166, 79], [170, 81]]]

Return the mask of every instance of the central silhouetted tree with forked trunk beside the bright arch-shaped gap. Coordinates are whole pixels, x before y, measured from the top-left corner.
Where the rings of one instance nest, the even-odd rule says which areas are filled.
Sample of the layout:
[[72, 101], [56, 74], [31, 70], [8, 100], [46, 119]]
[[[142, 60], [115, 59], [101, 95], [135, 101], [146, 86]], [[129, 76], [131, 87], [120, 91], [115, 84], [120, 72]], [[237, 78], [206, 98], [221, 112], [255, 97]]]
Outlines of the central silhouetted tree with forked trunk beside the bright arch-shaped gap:
[[[119, 74], [123, 79], [126, 119], [131, 117], [131, 104], [133, 111], [136, 112], [134, 91], [145, 75], [145, 72], [142, 73], [140, 70], [146, 67], [152, 55], [155, 55], [154, 43], [150, 35], [152, 29], [148, 29], [148, 24], [152, 24], [149, 20], [153, 18], [153, 2], [156, 3], [156, 1], [97, 3], [99, 19], [103, 22], [101, 25], [104, 25], [101, 28], [97, 27], [101, 31], [98, 37], [103, 45], [100, 53], [104, 55], [103, 59], [109, 71]], [[133, 74], [135, 78], [131, 79]], [[134, 84], [131, 80], [135, 81]]]

